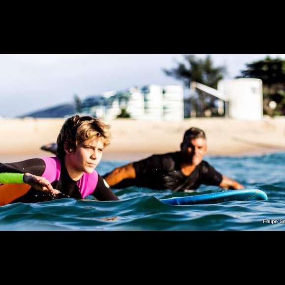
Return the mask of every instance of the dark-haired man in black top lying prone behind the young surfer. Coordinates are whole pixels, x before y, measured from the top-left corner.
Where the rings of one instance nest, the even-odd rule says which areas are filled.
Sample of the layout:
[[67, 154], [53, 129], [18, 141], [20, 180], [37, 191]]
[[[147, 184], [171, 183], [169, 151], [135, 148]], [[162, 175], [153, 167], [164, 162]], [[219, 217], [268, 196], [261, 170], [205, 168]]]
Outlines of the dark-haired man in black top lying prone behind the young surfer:
[[[56, 146], [51, 146], [55, 150]], [[180, 147], [181, 150], [178, 152], [152, 155], [116, 168], [104, 178], [113, 189], [137, 186], [184, 192], [196, 190], [201, 184], [216, 185], [224, 189], [244, 189], [244, 186], [222, 175], [203, 161], [207, 145], [202, 130], [191, 128], [186, 131]], [[52, 150], [51, 147], [43, 149]]]

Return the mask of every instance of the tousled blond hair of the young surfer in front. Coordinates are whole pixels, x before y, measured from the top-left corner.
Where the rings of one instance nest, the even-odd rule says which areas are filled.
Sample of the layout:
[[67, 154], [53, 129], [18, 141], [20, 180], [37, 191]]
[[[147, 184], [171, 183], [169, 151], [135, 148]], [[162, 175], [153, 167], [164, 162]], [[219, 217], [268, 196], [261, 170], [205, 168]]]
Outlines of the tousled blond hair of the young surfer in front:
[[111, 142], [110, 126], [91, 116], [75, 115], [68, 118], [57, 137], [57, 156], [64, 158], [65, 142], [68, 145], [69, 152], [74, 152], [80, 143], [94, 137], [101, 139], [104, 147], [107, 147]]

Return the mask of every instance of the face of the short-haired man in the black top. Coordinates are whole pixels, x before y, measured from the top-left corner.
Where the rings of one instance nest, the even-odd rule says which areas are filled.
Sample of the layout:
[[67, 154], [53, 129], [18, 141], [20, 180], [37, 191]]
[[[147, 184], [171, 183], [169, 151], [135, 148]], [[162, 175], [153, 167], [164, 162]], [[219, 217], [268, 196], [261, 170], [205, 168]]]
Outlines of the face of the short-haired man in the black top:
[[184, 162], [198, 166], [207, 152], [206, 140], [202, 138], [194, 140], [186, 138], [181, 143], [181, 152]]

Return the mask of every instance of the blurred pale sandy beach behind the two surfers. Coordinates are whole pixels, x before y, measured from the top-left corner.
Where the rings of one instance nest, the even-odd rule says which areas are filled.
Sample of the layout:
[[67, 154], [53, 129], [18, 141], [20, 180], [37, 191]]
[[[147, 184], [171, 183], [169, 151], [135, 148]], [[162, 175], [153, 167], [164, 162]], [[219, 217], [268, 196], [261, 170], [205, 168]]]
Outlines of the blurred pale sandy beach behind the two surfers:
[[[40, 147], [56, 142], [64, 119], [0, 118], [0, 162], [48, 156]], [[105, 161], [131, 161], [150, 154], [179, 150], [184, 132], [199, 127], [206, 132], [208, 155], [247, 156], [285, 151], [285, 118], [240, 121], [225, 118], [190, 118], [182, 122], [116, 119]]]

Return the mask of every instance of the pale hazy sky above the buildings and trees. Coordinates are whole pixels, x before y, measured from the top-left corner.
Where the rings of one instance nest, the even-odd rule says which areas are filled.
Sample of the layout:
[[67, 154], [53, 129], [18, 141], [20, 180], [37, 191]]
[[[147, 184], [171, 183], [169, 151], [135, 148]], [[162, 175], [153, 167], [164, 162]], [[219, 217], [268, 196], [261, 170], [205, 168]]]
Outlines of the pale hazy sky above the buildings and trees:
[[[226, 79], [240, 75], [261, 54], [209, 54], [214, 66], [226, 66]], [[197, 54], [199, 58], [207, 55]], [[285, 54], [268, 54], [285, 59]], [[181, 84], [163, 72], [182, 62], [181, 54], [0, 55], [0, 116], [19, 116], [71, 103], [104, 91], [148, 84]]]

